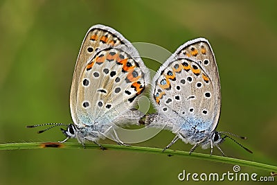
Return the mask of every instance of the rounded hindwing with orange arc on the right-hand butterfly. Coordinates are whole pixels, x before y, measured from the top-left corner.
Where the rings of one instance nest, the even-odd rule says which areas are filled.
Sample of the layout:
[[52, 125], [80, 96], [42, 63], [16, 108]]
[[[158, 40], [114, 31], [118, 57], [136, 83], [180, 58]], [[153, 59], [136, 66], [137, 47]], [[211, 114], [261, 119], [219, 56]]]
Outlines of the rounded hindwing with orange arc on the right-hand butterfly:
[[155, 81], [154, 103], [176, 129], [206, 130], [213, 123], [215, 97], [211, 79], [197, 62], [178, 58]]

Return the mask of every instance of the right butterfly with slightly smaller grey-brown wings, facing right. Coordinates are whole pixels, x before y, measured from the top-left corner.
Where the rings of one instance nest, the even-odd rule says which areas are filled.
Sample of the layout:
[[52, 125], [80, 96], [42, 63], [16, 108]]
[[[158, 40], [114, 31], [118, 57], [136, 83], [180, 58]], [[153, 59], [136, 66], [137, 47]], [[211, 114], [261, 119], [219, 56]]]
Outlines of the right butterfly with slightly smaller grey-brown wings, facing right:
[[214, 146], [224, 155], [220, 143], [231, 138], [229, 135], [236, 136], [216, 131], [221, 107], [220, 76], [211, 45], [204, 38], [181, 45], [163, 63], [152, 80], [151, 98], [158, 113], [146, 116], [145, 125], [176, 134], [164, 150], [181, 139], [193, 145], [190, 153], [201, 145], [204, 149], [211, 147], [211, 155]]

